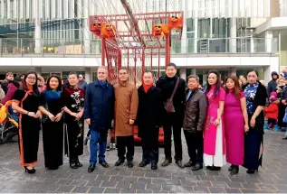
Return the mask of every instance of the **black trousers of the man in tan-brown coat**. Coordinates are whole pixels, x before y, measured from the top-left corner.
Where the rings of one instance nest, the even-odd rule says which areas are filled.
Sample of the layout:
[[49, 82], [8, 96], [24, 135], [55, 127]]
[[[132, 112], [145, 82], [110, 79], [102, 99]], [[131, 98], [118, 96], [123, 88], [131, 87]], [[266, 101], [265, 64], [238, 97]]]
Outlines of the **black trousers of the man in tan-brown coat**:
[[130, 136], [117, 136], [117, 149], [118, 149], [118, 157], [119, 159], [125, 160], [126, 155], [126, 148], [127, 152], [127, 160], [132, 161], [133, 156], [135, 153], [135, 146], [134, 146], [134, 137], [133, 135]]

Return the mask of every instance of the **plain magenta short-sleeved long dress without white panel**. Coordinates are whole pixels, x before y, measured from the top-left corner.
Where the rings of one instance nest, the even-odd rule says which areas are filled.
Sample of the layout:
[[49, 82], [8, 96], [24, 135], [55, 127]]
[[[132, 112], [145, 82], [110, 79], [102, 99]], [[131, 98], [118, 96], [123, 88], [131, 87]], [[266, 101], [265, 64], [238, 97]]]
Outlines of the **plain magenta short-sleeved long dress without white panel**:
[[[244, 93], [241, 93], [241, 97]], [[244, 116], [241, 110], [240, 99], [234, 93], [225, 97], [225, 138], [226, 161], [234, 165], [244, 164]]]

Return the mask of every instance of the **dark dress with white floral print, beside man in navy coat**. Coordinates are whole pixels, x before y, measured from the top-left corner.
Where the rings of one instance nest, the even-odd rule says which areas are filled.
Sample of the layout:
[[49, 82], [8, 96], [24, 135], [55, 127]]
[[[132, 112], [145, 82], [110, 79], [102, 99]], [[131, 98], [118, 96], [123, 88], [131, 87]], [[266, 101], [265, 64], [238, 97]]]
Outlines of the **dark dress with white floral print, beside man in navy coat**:
[[[81, 88], [65, 88], [62, 92], [62, 103], [73, 113], [80, 113], [84, 107], [84, 90]], [[65, 154], [70, 160], [76, 160], [83, 153], [84, 121], [74, 116], [65, 114]]]

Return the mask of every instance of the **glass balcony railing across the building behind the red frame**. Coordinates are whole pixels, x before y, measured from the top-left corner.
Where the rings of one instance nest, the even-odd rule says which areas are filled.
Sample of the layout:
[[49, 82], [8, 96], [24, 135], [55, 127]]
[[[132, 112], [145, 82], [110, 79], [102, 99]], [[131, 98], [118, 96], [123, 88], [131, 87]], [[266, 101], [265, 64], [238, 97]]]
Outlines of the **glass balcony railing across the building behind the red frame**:
[[[0, 39], [0, 57], [95, 57], [100, 46], [97, 39]], [[184, 39], [172, 41], [171, 55], [275, 55], [278, 48], [275, 38]]]

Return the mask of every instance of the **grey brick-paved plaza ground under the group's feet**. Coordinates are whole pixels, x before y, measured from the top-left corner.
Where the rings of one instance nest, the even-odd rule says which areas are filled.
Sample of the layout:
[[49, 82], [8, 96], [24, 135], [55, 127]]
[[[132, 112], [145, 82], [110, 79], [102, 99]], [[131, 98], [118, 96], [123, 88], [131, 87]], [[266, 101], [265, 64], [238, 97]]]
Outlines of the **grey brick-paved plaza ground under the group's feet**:
[[[39, 148], [39, 162], [33, 175], [24, 172], [19, 165], [17, 143], [0, 145], [0, 191], [21, 193], [273, 193], [287, 192], [287, 141], [282, 133], [267, 132], [264, 135], [263, 168], [254, 175], [240, 173], [230, 176], [226, 165], [222, 171], [190, 171], [179, 169], [173, 163], [158, 171], [151, 171], [150, 165], [139, 168], [141, 148], [136, 147], [135, 167], [127, 164], [114, 167], [117, 151], [107, 152], [109, 169], [97, 165], [96, 170], [88, 173], [89, 148], [85, 146], [80, 160], [83, 167], [72, 170], [67, 158], [57, 171], [48, 171], [43, 166], [43, 146]], [[184, 162], [188, 161], [187, 146], [183, 138]], [[164, 160], [164, 151], [160, 149], [159, 161]]]

